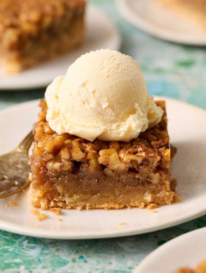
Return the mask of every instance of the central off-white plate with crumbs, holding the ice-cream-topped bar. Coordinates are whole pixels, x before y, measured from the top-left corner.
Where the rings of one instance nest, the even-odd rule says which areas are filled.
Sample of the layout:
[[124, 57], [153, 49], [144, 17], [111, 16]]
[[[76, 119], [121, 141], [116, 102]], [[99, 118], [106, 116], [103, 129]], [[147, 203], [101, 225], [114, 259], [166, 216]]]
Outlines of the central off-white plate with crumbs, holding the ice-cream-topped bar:
[[[158, 97], [156, 99], [159, 99]], [[0, 199], [0, 228], [36, 237], [77, 239], [106, 238], [140, 234], [171, 227], [206, 212], [206, 111], [173, 99], [166, 99], [171, 143], [178, 148], [172, 164], [177, 178], [176, 193], [182, 202], [163, 206], [157, 213], [146, 209], [63, 210], [61, 216], [46, 211], [50, 218], [37, 222], [30, 213], [26, 192]], [[30, 101], [0, 111], [0, 151], [12, 150], [37, 120], [38, 101]], [[14, 200], [21, 209], [5, 208]], [[62, 222], [57, 218], [61, 217]], [[126, 225], [118, 224], [125, 222]]]

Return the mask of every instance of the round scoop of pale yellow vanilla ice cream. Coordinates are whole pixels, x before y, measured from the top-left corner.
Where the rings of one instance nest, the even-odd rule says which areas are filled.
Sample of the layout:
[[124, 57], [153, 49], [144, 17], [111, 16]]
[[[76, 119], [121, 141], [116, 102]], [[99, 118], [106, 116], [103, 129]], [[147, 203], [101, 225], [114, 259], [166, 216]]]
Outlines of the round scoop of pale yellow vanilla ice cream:
[[147, 93], [138, 64], [110, 49], [79, 57], [65, 77], [48, 86], [45, 99], [52, 130], [90, 141], [128, 142], [156, 125], [163, 114]]

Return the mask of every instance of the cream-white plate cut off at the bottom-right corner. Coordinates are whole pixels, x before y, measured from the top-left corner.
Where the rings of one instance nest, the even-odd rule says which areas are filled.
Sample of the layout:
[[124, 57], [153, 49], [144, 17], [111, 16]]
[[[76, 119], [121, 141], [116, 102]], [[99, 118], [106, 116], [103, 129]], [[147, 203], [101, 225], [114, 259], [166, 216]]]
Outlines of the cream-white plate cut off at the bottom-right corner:
[[152, 251], [133, 273], [171, 273], [206, 260], [206, 227], [178, 236]]

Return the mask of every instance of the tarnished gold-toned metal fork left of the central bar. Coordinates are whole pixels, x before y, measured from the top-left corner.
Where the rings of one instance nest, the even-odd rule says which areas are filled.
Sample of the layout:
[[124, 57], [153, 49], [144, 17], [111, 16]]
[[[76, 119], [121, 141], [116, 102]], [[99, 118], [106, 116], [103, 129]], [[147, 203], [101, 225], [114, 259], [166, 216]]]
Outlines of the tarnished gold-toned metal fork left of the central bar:
[[31, 131], [18, 147], [0, 156], [0, 198], [16, 194], [30, 183], [28, 150], [33, 140]]

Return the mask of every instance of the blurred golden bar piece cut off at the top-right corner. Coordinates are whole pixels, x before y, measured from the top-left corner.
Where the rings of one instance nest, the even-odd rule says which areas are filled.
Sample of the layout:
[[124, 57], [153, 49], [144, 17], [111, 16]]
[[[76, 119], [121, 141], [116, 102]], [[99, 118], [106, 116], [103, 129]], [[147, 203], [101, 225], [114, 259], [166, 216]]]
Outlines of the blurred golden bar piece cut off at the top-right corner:
[[194, 22], [206, 30], [205, 0], [155, 0], [182, 18]]

